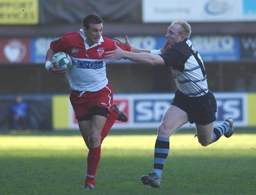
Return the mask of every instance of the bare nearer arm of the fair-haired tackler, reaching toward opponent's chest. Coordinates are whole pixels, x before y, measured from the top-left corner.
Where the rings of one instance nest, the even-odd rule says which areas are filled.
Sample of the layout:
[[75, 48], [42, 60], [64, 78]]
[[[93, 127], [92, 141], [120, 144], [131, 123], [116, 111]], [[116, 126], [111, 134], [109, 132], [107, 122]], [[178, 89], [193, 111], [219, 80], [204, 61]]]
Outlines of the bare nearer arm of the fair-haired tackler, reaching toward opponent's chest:
[[130, 59], [131, 61], [136, 61], [138, 63], [143, 63], [145, 65], [165, 65], [163, 58], [159, 55], [149, 54], [146, 52], [134, 53], [123, 51], [115, 43], [116, 50], [108, 51], [105, 53], [106, 59], [112, 59], [115, 61], [118, 59]]

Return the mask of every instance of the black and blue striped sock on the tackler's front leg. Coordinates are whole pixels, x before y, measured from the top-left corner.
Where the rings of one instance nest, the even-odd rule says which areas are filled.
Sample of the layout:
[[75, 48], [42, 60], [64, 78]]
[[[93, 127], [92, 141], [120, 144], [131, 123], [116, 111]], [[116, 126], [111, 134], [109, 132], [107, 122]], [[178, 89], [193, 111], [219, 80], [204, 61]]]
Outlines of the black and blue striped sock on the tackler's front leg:
[[170, 150], [170, 140], [165, 137], [157, 137], [154, 153], [154, 172], [161, 178], [164, 162]]

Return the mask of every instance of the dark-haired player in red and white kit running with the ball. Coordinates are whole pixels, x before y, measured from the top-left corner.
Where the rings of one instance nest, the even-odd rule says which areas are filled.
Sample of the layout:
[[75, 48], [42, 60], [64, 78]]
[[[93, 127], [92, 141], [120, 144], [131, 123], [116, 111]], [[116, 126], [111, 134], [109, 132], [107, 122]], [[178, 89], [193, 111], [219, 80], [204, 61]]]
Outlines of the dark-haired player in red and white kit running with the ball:
[[[115, 41], [102, 36], [102, 31], [101, 17], [97, 13], [89, 14], [84, 17], [79, 32], [67, 33], [52, 41], [45, 56], [45, 68], [50, 72], [65, 73], [71, 88], [70, 102], [89, 149], [85, 189], [94, 189], [103, 139], [115, 120], [127, 121], [127, 115], [113, 104], [113, 89], [106, 77], [104, 54], [115, 49]], [[131, 51], [131, 47], [119, 46]], [[72, 58], [69, 70], [56, 69], [52, 65], [52, 56], [60, 51]]]

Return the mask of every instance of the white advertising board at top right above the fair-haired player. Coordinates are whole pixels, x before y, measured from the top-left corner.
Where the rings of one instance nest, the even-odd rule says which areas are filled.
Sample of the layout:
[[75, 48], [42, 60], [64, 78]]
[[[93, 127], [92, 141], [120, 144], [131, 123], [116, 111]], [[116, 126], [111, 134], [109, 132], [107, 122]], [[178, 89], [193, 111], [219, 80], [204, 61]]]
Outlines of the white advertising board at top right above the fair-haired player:
[[145, 23], [256, 21], [255, 0], [143, 0]]

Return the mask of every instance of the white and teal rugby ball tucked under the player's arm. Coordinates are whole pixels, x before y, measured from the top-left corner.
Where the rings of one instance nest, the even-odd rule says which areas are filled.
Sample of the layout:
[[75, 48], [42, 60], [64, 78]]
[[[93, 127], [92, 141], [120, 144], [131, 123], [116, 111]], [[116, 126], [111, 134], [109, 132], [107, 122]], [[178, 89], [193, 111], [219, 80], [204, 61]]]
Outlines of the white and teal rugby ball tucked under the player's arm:
[[57, 52], [52, 56], [54, 68], [68, 70], [72, 66], [71, 57], [65, 52]]

